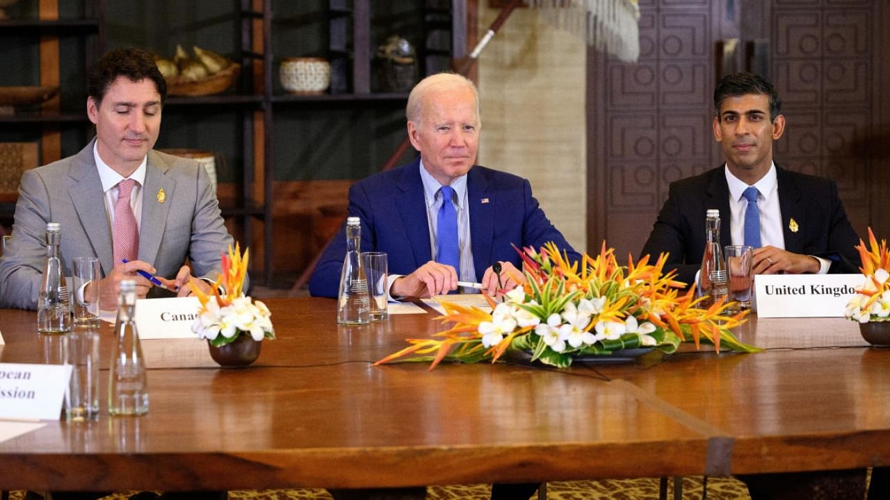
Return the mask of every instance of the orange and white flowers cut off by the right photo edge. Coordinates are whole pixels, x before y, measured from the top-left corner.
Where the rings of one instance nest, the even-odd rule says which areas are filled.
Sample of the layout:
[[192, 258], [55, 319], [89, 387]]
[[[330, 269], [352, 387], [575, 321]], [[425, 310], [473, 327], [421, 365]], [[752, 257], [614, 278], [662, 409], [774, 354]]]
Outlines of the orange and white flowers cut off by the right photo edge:
[[860, 323], [890, 321], [890, 251], [886, 239], [880, 245], [869, 228], [869, 247], [862, 239], [856, 246], [865, 282], [846, 305], [845, 316]]

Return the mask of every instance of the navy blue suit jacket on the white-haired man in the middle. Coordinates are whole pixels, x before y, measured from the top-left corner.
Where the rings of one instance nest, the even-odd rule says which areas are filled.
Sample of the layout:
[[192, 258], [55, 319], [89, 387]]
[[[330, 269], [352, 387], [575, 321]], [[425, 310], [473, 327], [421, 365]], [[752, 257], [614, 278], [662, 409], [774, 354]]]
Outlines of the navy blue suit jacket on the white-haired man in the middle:
[[[349, 214], [361, 220], [361, 250], [386, 252], [391, 274], [410, 274], [432, 260], [419, 161], [376, 173], [349, 190]], [[580, 258], [531, 196], [529, 181], [476, 165], [467, 174], [466, 186], [477, 280], [493, 262], [520, 267], [511, 243], [538, 248], [553, 241], [570, 259]], [[336, 297], [345, 254], [341, 228], [312, 273], [312, 295]]]

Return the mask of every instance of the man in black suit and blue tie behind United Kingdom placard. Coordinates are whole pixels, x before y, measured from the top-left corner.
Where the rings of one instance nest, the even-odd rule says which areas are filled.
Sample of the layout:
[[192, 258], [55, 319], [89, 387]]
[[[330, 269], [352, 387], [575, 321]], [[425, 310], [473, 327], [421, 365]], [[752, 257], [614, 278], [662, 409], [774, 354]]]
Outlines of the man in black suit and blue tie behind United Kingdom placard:
[[[669, 252], [667, 267], [691, 284], [705, 246], [705, 212], [716, 208], [720, 244], [755, 246], [756, 274], [858, 272], [859, 237], [835, 182], [773, 163], [773, 141], [785, 130], [773, 85], [751, 73], [729, 75], [716, 86], [714, 106], [726, 163], [671, 183], [643, 254]], [[746, 233], [748, 212], [758, 216]]]

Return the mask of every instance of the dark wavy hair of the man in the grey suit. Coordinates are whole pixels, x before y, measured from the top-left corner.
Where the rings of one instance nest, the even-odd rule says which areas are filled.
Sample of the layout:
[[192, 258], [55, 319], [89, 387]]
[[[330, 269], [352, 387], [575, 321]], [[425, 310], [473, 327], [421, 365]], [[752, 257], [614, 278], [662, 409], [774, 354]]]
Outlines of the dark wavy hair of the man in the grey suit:
[[150, 79], [161, 95], [161, 104], [164, 104], [166, 80], [151, 54], [142, 49], [117, 49], [99, 58], [90, 70], [87, 95], [92, 97], [98, 106], [108, 92], [109, 86], [121, 76], [129, 78], [131, 82]]

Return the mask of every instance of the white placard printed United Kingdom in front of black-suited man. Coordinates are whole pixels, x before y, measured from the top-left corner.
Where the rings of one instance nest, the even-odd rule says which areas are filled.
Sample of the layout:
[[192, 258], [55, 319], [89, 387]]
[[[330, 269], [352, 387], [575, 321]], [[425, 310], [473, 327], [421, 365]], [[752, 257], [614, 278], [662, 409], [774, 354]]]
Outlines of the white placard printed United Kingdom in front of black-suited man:
[[760, 318], [843, 317], [862, 286], [862, 274], [758, 274], [754, 279]]

